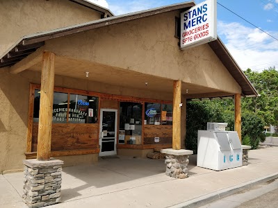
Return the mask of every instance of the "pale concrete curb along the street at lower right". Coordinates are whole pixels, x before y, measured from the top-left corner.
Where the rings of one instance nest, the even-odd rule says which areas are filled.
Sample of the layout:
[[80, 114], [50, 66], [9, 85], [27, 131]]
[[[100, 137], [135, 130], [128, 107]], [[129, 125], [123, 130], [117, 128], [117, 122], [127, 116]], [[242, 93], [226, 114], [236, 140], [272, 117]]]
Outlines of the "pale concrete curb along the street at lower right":
[[260, 177], [255, 180], [251, 180], [249, 182], [244, 182], [243, 184], [236, 185], [234, 187], [229, 187], [227, 189], [222, 189], [220, 191], [215, 191], [213, 193], [208, 193], [204, 196], [200, 196], [198, 198], [195, 198], [193, 200], [188, 200], [186, 202], [182, 202], [177, 205], [170, 206], [171, 208], [195, 208], [200, 207], [203, 205], [208, 204], [208, 202], [213, 202], [215, 200], [219, 200], [221, 198], [225, 198], [227, 196], [230, 196], [238, 191], [243, 191], [245, 189], [250, 189], [251, 187], [254, 187], [256, 184], [261, 184], [263, 182], [268, 182], [270, 180], [275, 180], [278, 178], [278, 173], [273, 173], [270, 175], [267, 175], [265, 177]]

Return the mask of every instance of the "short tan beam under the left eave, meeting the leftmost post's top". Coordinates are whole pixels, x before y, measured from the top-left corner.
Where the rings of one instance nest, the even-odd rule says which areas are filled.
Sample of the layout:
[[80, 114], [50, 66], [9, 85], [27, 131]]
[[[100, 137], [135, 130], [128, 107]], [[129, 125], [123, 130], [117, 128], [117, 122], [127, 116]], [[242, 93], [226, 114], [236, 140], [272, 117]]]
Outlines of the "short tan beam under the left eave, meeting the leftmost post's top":
[[37, 64], [38, 62], [42, 61], [42, 53], [43, 49], [40, 48], [34, 53], [31, 53], [26, 58], [21, 60], [20, 62], [17, 62], [13, 67], [10, 67], [10, 73], [19, 73], [22, 72], [33, 65]]

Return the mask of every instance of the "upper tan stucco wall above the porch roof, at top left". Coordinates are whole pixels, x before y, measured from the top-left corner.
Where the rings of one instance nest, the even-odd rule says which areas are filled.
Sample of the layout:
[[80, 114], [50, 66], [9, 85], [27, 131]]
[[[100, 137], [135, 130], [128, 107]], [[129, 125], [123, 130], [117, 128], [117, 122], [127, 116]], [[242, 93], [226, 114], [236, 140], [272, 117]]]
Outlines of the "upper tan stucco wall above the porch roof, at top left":
[[20, 37], [100, 19], [100, 13], [68, 0], [0, 1], [0, 55]]

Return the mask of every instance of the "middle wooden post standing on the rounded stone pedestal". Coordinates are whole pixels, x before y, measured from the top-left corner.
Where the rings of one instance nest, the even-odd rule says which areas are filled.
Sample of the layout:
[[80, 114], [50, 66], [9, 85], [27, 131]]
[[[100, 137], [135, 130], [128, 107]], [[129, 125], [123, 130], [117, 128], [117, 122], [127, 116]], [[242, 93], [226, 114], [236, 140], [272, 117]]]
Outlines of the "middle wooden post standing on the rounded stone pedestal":
[[174, 81], [172, 148], [181, 149], [181, 80]]

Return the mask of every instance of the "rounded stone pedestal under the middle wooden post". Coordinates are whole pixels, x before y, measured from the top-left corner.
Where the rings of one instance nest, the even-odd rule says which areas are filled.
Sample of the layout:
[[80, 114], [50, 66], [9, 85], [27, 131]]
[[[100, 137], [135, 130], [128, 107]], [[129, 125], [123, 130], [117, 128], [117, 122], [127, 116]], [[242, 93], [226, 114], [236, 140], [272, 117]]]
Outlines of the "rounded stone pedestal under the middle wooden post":
[[193, 154], [192, 150], [162, 149], [161, 153], [166, 154], [165, 174], [167, 176], [179, 179], [188, 177], [189, 155]]

